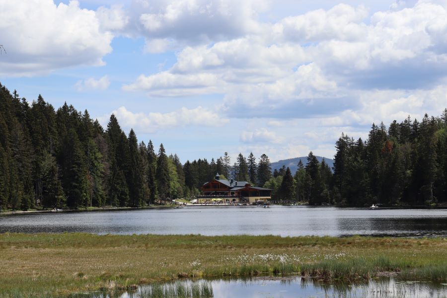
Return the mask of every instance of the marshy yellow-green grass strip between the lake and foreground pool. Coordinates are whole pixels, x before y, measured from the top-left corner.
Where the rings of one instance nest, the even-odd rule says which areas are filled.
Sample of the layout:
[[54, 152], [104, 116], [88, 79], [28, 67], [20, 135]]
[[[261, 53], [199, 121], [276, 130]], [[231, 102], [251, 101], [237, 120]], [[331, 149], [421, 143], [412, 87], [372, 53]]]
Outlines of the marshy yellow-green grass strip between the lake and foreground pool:
[[179, 277], [400, 272], [447, 279], [447, 239], [0, 234], [0, 297], [48, 297]]

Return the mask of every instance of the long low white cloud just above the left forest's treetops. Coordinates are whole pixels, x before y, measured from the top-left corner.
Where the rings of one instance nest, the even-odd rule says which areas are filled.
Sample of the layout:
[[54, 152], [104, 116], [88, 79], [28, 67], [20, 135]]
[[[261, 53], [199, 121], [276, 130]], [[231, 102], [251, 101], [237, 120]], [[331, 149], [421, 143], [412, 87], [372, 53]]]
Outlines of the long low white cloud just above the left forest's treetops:
[[[228, 123], [228, 119], [221, 118], [217, 113], [203, 107], [187, 109], [185, 107], [169, 113], [134, 113], [122, 106], [112, 111], [120, 125], [133, 128], [136, 132], [153, 133], [177, 127], [205, 126], [220, 127]], [[109, 115], [98, 118], [101, 123], [107, 123]]]

